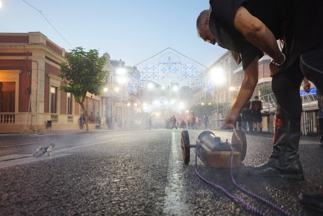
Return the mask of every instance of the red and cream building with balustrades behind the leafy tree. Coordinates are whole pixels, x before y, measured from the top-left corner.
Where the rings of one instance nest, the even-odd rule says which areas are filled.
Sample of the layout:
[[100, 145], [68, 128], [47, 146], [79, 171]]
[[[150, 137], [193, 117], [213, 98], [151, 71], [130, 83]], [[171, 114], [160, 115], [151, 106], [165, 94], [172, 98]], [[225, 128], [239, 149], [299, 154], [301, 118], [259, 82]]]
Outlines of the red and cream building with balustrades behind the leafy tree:
[[[0, 131], [43, 131], [47, 120], [52, 130], [79, 129], [83, 111], [59, 90], [66, 85], [58, 77], [65, 52], [40, 32], [0, 33]], [[102, 116], [103, 103], [94, 95], [86, 99], [89, 122]]]

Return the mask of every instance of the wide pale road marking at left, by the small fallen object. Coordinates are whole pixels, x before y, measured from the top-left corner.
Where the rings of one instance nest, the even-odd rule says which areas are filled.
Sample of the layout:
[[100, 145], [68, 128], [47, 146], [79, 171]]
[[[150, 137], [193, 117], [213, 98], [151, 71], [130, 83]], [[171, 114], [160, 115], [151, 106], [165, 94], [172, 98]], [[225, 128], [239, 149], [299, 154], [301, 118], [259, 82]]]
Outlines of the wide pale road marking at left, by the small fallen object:
[[[52, 156], [48, 156], [47, 154], [44, 154], [43, 156], [41, 156], [39, 158], [34, 158], [34, 157], [20, 158], [20, 157], [25, 157], [25, 156], [31, 156], [31, 154], [21, 154], [21, 155], [16, 154], [16, 155], [3, 156], [3, 157], [0, 157], [0, 169], [5, 168], [5, 167], [19, 165], [19, 164], [32, 163], [32, 162], [39, 161], [39, 160], [48, 160], [48, 159], [52, 159], [52, 158], [68, 156], [68, 155], [71, 155], [71, 153], [66, 153], [66, 151], [68, 151], [68, 150], [78, 149], [78, 148], [93, 146], [93, 145], [98, 145], [98, 144], [104, 144], [104, 143], [115, 141], [115, 140], [117, 140], [117, 139], [112, 139], [109, 141], [99, 142], [99, 143], [90, 143], [90, 144], [75, 146], [75, 147], [66, 148], [66, 149], [59, 149], [57, 151], [55, 151], [55, 148], [54, 148]], [[65, 152], [65, 153], [60, 153], [60, 152]], [[1, 160], [14, 159], [14, 158], [20, 158], [20, 159], [1, 161]]]

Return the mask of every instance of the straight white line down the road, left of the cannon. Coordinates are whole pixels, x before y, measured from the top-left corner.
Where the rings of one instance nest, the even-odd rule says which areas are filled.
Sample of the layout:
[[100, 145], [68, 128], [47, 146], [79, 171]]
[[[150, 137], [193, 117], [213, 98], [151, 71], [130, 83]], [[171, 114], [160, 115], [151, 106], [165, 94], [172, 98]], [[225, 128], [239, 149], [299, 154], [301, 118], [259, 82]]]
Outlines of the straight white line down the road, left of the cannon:
[[[189, 215], [188, 206], [185, 204], [186, 193], [183, 188], [182, 166], [179, 157], [179, 144], [176, 144], [175, 134], [172, 131], [171, 154], [168, 160], [167, 186], [164, 197], [164, 213], [166, 215]], [[181, 155], [182, 156], [182, 155]]]

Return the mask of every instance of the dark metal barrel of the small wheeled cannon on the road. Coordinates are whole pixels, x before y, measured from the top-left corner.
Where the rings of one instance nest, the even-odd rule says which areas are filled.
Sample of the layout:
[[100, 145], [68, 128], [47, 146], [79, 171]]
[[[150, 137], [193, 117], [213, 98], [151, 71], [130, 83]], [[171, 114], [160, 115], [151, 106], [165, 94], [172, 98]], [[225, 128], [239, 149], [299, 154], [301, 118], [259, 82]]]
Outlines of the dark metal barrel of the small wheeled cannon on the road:
[[211, 151], [231, 151], [230, 146], [221, 142], [220, 137], [216, 137], [211, 131], [203, 131], [198, 138]]

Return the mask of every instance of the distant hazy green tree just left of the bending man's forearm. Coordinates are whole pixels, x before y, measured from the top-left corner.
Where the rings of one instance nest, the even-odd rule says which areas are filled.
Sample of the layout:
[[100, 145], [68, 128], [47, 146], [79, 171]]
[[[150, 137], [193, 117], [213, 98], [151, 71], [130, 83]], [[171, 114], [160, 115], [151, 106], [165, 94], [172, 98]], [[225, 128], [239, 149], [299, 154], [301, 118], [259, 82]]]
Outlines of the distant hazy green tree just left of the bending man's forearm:
[[[228, 106], [227, 103], [219, 103], [218, 107], [219, 107], [219, 109], [221, 109], [221, 108], [224, 108], [227, 106]], [[211, 116], [212, 111], [214, 111], [214, 110], [217, 110], [216, 103], [213, 103], [212, 101], [205, 100], [201, 103], [197, 103], [197, 104], [192, 105], [189, 109], [189, 112], [191, 115], [195, 114], [195, 116], [203, 118], [204, 114]]]

